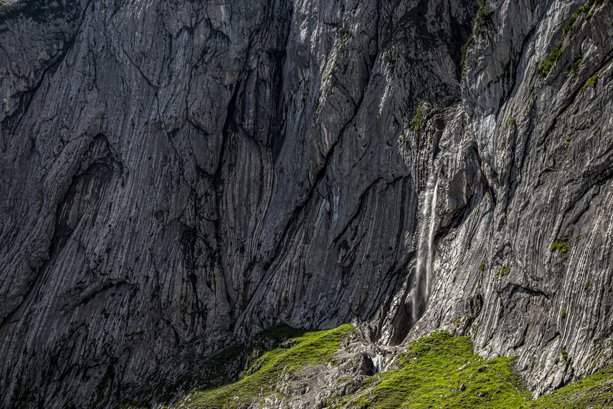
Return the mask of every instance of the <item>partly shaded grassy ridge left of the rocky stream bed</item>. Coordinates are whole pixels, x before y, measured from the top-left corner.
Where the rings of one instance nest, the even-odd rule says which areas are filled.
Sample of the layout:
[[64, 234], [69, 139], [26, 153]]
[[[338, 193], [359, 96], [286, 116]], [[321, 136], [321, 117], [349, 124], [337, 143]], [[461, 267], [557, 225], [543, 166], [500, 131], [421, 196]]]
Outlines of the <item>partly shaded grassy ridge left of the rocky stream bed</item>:
[[[164, 380], [164, 373], [156, 373], [143, 386], [128, 392], [119, 408], [150, 408], [154, 402], [169, 403], [186, 389], [190, 408], [238, 408], [260, 399], [262, 394], [272, 394], [281, 373], [330, 362], [340, 343], [353, 331], [348, 324], [328, 331], [281, 324], [259, 332], [249, 342], [229, 346], [208, 357], [202, 365], [194, 365], [196, 359], [186, 357], [193, 360], [189, 373], [173, 381]], [[234, 399], [235, 396], [240, 399]], [[185, 400], [184, 394], [175, 405]]]

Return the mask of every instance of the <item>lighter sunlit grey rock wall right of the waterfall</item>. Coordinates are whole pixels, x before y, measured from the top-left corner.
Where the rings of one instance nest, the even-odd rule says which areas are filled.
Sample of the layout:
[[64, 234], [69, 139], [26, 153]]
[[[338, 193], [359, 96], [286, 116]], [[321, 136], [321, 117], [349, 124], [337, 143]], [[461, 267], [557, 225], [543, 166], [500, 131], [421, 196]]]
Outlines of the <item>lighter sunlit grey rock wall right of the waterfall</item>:
[[613, 5], [488, 6], [462, 96], [490, 191], [441, 239], [414, 334], [463, 315], [538, 394], [611, 364]]

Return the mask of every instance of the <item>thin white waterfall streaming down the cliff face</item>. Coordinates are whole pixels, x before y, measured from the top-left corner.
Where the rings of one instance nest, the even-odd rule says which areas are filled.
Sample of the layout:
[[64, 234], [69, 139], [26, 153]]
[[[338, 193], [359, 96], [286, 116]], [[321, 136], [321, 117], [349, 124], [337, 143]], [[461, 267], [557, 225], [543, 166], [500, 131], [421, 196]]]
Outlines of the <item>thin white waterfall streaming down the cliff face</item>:
[[[432, 172], [428, 178], [424, 193], [422, 208], [422, 225], [419, 232], [419, 245], [417, 247], [417, 265], [415, 267], [415, 287], [412, 291], [413, 324], [419, 319], [419, 310], [422, 305], [420, 296], [423, 296], [423, 305], [430, 297], [432, 283], [432, 259], [434, 256], [433, 242], [436, 221], [436, 194], [438, 193], [438, 172]], [[425, 276], [425, 277], [424, 277]], [[422, 288], [425, 278], [425, 288]]]

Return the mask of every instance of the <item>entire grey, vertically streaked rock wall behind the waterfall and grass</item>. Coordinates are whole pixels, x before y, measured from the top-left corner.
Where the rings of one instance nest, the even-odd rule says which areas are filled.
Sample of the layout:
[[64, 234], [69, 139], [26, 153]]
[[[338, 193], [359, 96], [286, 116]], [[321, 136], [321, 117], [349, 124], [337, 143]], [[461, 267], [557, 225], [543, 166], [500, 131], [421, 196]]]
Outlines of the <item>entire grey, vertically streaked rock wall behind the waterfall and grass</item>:
[[0, 17], [0, 405], [278, 323], [607, 364], [611, 2], [58, 4]]

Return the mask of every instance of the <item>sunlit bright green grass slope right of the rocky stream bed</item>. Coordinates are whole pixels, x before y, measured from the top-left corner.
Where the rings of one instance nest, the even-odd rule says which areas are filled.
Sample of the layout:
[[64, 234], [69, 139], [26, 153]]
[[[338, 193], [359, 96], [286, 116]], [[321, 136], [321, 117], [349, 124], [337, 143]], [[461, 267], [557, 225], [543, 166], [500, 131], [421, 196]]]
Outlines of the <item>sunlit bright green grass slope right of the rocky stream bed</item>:
[[483, 359], [470, 337], [436, 332], [412, 342], [396, 369], [378, 373], [371, 386], [333, 408], [611, 408], [613, 369], [531, 400], [516, 372], [517, 357]]

